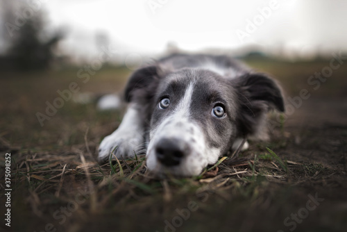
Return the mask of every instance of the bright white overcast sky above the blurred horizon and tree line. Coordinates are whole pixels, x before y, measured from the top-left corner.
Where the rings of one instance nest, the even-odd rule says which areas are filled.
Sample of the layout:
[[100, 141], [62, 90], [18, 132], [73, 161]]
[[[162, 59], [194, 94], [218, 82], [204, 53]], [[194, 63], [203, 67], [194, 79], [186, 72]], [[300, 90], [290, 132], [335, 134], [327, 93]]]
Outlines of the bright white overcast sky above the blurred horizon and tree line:
[[78, 58], [100, 52], [97, 34], [135, 56], [160, 53], [169, 43], [189, 51], [257, 44], [287, 56], [347, 50], [345, 0], [31, 1], [44, 2], [51, 28], [67, 31], [62, 50]]

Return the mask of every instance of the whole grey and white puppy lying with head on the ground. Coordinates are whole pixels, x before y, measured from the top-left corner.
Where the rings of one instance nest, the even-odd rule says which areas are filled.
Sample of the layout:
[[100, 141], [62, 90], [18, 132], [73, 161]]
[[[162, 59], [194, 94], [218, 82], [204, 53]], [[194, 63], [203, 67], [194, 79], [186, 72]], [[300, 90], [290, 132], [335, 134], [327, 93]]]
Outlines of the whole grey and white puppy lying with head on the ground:
[[149, 170], [176, 176], [200, 174], [243, 139], [266, 140], [266, 113], [285, 110], [269, 76], [228, 56], [203, 54], [174, 54], [138, 69], [125, 98], [128, 110], [101, 142], [99, 160], [115, 147], [117, 158], [145, 147]]

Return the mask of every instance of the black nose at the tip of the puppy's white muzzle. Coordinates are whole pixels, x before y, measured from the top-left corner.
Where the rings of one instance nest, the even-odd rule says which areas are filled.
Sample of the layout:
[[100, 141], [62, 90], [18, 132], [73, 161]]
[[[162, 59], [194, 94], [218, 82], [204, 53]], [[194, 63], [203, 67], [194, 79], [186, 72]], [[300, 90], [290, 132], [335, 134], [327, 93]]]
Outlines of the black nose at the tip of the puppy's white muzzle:
[[155, 155], [167, 167], [179, 165], [188, 152], [187, 144], [178, 139], [162, 138], [155, 147]]

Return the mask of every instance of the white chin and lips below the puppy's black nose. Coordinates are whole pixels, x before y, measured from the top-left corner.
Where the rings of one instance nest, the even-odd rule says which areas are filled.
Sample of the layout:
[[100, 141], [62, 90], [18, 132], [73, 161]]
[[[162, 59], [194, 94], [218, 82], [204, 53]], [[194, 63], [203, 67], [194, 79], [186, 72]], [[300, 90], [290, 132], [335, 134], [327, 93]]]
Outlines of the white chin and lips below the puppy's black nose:
[[179, 165], [175, 165], [172, 167], [167, 167], [162, 165], [155, 154], [147, 154], [146, 166], [151, 173], [158, 177], [164, 176], [175, 176], [175, 177], [191, 177], [198, 176], [203, 171], [203, 168], [206, 166], [204, 163], [191, 163], [192, 160], [186, 158]]

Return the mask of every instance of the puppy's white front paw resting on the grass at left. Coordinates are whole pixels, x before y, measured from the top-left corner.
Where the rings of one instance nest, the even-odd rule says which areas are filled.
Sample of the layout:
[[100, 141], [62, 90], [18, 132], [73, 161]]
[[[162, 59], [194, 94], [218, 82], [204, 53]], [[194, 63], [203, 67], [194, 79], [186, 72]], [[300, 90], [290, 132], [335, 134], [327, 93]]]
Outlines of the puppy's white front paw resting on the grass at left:
[[134, 157], [135, 149], [142, 144], [142, 140], [142, 135], [115, 131], [115, 133], [106, 136], [101, 142], [98, 160], [100, 163], [107, 161], [112, 152], [117, 158], [121, 158], [121, 156], [124, 158]]

